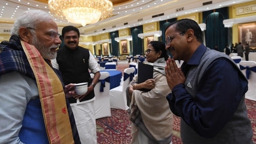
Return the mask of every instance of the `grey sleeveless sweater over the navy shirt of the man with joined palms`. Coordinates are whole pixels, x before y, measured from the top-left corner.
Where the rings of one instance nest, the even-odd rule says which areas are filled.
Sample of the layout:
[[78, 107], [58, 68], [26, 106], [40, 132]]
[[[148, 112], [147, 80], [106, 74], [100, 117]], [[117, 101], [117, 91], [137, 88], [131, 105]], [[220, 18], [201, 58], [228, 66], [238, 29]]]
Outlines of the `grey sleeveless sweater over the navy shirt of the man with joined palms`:
[[[201, 79], [204, 71], [208, 68], [211, 62], [220, 57], [228, 59], [238, 69], [235, 62], [233, 62], [230, 57], [208, 48], [205, 54], [202, 56], [200, 64], [197, 67], [190, 69], [189, 73], [187, 74], [189, 76], [187, 76], [185, 83], [190, 82], [193, 89], [188, 88], [187, 84], [185, 84], [185, 87], [191, 96], [195, 97], [198, 82]], [[240, 73], [240, 75], [242, 75], [241, 71]], [[245, 96], [242, 97], [233, 117], [231, 117], [230, 121], [214, 138], [201, 137], [189, 125], [187, 125], [184, 120], [181, 119], [180, 134], [183, 144], [253, 144], [253, 133], [250, 120], [247, 117], [247, 109], [244, 99]], [[239, 131], [243, 131], [243, 134], [241, 134]], [[244, 131], [246, 131], [246, 133], [244, 133]]]

